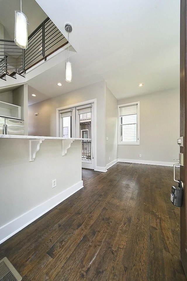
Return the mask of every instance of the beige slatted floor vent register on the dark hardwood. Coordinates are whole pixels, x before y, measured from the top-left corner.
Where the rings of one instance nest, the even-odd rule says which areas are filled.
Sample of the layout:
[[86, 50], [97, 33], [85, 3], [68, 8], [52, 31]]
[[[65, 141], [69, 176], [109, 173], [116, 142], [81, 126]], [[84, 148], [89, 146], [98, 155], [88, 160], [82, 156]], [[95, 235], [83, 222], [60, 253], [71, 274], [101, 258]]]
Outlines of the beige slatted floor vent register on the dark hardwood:
[[21, 281], [22, 277], [13, 265], [8, 261], [8, 258], [3, 258], [0, 261], [0, 281]]

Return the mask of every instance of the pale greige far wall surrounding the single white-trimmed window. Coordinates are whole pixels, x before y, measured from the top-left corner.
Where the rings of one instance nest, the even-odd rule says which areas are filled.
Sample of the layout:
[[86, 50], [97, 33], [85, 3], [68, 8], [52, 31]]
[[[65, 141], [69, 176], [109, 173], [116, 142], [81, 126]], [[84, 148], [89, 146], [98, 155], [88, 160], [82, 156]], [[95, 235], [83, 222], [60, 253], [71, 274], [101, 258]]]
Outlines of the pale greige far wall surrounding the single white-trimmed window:
[[175, 162], [179, 157], [179, 89], [122, 99], [118, 104], [136, 101], [140, 101], [140, 145], [118, 145], [118, 158]]

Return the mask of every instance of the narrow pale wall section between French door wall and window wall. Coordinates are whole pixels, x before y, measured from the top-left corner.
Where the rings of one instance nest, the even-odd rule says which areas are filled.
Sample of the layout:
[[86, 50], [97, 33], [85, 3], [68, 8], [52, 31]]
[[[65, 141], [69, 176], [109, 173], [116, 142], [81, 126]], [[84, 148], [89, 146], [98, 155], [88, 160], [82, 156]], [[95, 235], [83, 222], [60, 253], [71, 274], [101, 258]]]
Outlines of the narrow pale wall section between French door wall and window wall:
[[[117, 99], [106, 87], [106, 165], [117, 160]], [[110, 160], [109, 160], [110, 157]]]

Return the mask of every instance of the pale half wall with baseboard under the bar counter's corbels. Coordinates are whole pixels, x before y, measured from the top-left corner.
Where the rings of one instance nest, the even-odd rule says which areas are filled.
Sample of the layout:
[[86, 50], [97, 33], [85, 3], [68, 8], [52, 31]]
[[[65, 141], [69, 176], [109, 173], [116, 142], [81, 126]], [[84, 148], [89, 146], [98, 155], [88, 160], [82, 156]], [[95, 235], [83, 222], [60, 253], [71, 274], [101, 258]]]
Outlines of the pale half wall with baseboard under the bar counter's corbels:
[[82, 187], [80, 140], [65, 156], [61, 140], [44, 140], [29, 162], [28, 139], [0, 138], [0, 155], [0, 242]]

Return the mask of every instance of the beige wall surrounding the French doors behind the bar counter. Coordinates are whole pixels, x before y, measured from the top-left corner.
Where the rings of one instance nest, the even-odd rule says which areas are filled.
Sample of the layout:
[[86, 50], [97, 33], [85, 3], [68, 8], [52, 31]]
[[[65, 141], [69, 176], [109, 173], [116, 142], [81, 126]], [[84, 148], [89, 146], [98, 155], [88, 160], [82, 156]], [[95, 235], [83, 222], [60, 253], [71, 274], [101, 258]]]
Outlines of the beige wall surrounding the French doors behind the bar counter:
[[[105, 167], [105, 82], [101, 81], [28, 107], [29, 135], [56, 136], [56, 108], [96, 99], [97, 166]], [[38, 112], [38, 116], [34, 113]]]

